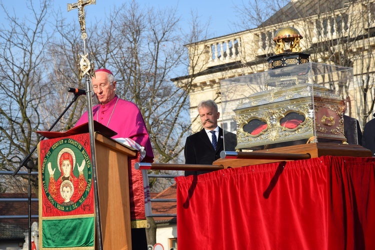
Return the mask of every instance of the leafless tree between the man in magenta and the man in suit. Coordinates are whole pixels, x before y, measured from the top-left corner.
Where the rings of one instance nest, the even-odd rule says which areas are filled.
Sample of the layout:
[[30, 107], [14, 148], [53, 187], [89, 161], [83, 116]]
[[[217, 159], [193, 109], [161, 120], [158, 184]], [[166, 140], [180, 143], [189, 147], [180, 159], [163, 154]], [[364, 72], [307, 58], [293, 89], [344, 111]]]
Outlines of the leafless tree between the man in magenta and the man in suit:
[[168, 79], [182, 52], [178, 18], [174, 10], [141, 9], [135, 1], [114, 12], [116, 18], [104, 23], [111, 32], [97, 34], [101, 46], [93, 43], [96, 64], [115, 72], [117, 94], [143, 114], [155, 160], [168, 162], [182, 150], [180, 138], [188, 126], [183, 116], [186, 92]]

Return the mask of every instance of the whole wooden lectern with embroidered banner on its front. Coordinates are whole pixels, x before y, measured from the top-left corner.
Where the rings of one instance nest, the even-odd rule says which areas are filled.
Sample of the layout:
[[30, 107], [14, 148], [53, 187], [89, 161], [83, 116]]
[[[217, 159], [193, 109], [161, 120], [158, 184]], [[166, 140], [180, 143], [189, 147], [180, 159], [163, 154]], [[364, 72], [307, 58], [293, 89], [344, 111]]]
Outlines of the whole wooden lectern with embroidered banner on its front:
[[131, 249], [128, 157], [136, 150], [94, 121], [64, 132], [38, 131], [39, 249], [95, 249], [96, 216], [91, 164], [95, 147], [103, 249]]

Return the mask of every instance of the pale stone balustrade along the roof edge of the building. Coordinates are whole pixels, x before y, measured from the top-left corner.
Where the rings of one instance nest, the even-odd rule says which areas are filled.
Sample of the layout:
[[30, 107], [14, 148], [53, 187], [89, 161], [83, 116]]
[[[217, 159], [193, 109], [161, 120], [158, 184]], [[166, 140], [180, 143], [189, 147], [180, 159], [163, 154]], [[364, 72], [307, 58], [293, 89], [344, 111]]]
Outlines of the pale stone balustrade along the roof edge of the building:
[[[333, 15], [330, 12], [313, 16], [307, 22], [285, 23], [285, 25], [295, 26], [300, 30], [303, 35], [301, 44], [303, 50], [305, 50], [314, 43], [347, 36], [350, 27], [353, 29], [352, 23], [359, 25], [358, 21], [368, 21], [369, 23], [361, 25], [369, 25], [369, 28], [371, 28], [371, 23], [373, 23], [373, 27], [375, 27], [375, 4], [362, 6], [362, 8], [368, 9], [368, 17], [361, 18], [363, 17], [361, 15], [354, 16], [356, 19], [352, 19], [354, 17], [346, 12], [335, 12]], [[350, 9], [352, 10], [352, 8]], [[363, 9], [356, 10], [358, 13], [361, 13], [361, 11]], [[198, 55], [190, 56], [192, 60], [190, 61], [189, 72], [197, 73], [231, 62], [250, 62], [271, 56], [274, 53], [275, 46], [272, 38], [278, 28], [280, 27], [254, 28], [188, 44], [190, 53]]]

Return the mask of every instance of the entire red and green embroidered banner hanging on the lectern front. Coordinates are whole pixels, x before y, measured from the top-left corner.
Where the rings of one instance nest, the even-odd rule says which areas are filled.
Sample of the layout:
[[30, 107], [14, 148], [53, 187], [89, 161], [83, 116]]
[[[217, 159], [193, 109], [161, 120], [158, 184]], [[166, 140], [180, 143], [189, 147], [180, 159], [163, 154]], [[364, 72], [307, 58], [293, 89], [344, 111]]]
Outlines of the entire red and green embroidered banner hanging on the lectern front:
[[39, 249], [94, 249], [89, 134], [42, 140], [39, 155]]

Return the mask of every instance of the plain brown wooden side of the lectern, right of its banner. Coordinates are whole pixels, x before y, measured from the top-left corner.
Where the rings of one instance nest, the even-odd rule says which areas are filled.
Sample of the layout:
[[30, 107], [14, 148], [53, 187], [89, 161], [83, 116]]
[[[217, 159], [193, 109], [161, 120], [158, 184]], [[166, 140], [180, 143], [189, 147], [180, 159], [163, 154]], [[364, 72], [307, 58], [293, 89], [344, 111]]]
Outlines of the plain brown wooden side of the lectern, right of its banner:
[[103, 249], [131, 249], [127, 158], [136, 152], [95, 133]]

